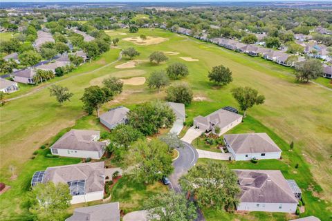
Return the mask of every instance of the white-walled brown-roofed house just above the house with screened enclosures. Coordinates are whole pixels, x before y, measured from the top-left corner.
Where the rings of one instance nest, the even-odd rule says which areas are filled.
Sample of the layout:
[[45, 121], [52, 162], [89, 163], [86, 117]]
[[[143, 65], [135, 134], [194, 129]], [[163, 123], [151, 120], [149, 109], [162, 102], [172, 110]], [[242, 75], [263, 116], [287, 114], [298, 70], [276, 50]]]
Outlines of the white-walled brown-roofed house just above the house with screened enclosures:
[[109, 141], [101, 141], [100, 131], [71, 130], [50, 146], [53, 155], [100, 159]]

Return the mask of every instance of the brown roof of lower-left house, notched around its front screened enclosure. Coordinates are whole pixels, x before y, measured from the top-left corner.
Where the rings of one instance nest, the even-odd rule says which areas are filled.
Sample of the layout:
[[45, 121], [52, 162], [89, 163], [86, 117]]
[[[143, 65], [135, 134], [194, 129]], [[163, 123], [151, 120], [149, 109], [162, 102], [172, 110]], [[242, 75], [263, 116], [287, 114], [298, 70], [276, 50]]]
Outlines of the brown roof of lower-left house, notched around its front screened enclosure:
[[71, 195], [82, 195], [104, 191], [104, 175], [104, 162], [53, 166], [46, 169], [42, 182], [68, 184]]

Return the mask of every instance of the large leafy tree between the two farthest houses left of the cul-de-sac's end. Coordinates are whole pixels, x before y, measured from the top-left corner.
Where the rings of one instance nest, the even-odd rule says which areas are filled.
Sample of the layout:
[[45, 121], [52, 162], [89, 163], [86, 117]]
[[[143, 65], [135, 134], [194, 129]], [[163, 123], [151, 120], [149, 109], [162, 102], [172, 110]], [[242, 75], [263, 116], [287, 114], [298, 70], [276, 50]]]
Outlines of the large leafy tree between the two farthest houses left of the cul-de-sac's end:
[[159, 128], [169, 128], [175, 121], [174, 112], [165, 102], [139, 104], [127, 116], [129, 124], [144, 135], [158, 133]]

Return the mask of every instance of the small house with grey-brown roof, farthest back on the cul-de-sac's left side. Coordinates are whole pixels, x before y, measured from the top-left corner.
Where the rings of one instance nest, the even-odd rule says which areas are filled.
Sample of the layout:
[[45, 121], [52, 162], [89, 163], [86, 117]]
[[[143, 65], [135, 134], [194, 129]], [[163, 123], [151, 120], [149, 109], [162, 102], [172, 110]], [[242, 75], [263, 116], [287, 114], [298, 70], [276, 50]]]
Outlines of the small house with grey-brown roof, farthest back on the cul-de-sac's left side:
[[112, 108], [106, 113], [103, 113], [100, 115], [100, 123], [102, 123], [104, 126], [112, 130], [113, 128], [116, 128], [119, 124], [127, 124], [128, 123], [128, 117], [127, 113], [130, 110], [124, 106], [118, 106], [116, 108]]

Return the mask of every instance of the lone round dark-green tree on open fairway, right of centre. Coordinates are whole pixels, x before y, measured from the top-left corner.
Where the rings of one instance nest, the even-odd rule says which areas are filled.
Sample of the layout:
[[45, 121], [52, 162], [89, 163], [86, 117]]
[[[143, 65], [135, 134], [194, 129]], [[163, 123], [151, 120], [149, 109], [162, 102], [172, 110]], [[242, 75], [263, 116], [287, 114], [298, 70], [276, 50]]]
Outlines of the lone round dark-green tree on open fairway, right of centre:
[[223, 65], [215, 66], [209, 71], [208, 75], [210, 81], [214, 81], [216, 85], [225, 86], [226, 84], [230, 84], [232, 82], [232, 71], [230, 68], [226, 68]]

